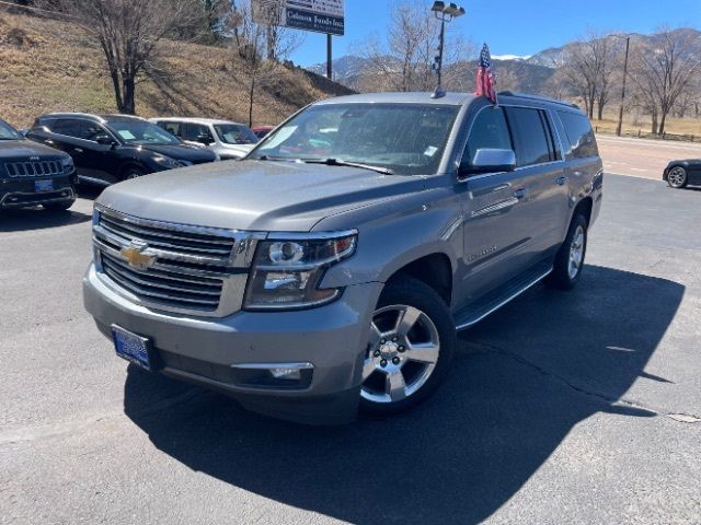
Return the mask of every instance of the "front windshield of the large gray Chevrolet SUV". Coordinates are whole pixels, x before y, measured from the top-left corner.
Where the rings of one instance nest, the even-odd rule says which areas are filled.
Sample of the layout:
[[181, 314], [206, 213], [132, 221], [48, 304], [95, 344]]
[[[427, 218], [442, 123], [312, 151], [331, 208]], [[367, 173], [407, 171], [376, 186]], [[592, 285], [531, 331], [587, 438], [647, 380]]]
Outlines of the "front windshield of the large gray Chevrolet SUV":
[[458, 110], [435, 104], [312, 106], [266, 137], [250, 159], [334, 159], [432, 175]]

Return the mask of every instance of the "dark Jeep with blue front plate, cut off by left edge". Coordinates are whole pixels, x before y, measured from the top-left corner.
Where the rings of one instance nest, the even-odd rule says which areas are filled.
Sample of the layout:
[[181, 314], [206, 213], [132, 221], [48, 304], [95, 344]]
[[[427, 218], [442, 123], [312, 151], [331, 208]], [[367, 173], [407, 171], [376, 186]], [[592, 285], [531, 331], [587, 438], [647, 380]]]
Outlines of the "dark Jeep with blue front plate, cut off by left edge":
[[38, 205], [67, 210], [77, 183], [70, 155], [25, 139], [0, 119], [0, 210]]

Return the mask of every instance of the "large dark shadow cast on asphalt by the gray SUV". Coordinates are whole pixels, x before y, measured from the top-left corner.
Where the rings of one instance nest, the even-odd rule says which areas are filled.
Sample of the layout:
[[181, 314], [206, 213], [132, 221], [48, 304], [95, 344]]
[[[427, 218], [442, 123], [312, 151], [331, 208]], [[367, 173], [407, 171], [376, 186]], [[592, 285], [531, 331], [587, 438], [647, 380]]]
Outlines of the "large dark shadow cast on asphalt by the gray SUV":
[[535, 287], [460, 335], [434, 397], [383, 421], [275, 421], [133, 368], [125, 413], [193, 470], [286, 505], [367, 525], [480, 523], [578, 422], [597, 412], [655, 416], [624, 396], [683, 293], [676, 282], [595, 266], [573, 292]]

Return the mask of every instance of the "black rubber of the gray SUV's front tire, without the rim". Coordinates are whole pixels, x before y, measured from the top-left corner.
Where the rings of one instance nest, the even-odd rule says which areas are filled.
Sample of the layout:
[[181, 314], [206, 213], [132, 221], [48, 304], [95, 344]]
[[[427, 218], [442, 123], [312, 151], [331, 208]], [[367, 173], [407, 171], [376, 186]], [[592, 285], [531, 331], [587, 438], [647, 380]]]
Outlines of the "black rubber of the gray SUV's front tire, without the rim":
[[[415, 407], [430, 396], [448, 373], [457, 345], [457, 331], [452, 315], [446, 303], [427, 284], [411, 277], [402, 277], [387, 283], [376, 310], [390, 305], [414, 306], [424, 312], [436, 325], [440, 351], [438, 361], [428, 381], [414, 394], [397, 402], [374, 402], [360, 398], [360, 413], [390, 416]], [[369, 330], [369, 328], [368, 328]]]

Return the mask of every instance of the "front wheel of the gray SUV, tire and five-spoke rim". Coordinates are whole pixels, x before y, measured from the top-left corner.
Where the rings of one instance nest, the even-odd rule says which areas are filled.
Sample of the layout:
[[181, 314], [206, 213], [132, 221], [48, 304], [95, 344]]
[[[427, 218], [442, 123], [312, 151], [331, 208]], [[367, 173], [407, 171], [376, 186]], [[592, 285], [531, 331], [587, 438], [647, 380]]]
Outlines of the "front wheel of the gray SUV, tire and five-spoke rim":
[[372, 314], [360, 413], [390, 416], [430, 396], [448, 373], [456, 339], [450, 311], [430, 287], [411, 277], [388, 282]]

